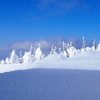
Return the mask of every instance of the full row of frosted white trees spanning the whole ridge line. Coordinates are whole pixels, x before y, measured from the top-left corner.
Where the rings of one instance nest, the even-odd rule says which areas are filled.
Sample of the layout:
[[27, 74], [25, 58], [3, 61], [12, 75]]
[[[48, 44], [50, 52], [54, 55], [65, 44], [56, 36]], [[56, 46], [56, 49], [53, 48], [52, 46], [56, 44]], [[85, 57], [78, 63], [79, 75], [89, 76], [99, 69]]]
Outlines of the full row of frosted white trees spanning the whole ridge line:
[[82, 43], [82, 48], [81, 49], [76, 49], [73, 45], [72, 42], [70, 43], [65, 43], [64, 41], [62, 42], [62, 47], [58, 48], [57, 52], [57, 47], [52, 46], [50, 53], [46, 56], [42, 50], [41, 50], [41, 45], [38, 44], [37, 48], [33, 48], [33, 46], [30, 46], [30, 49], [28, 52], [25, 52], [24, 55], [22, 55], [22, 52], [20, 51], [20, 56], [16, 54], [16, 50], [13, 50], [10, 54], [10, 57], [7, 57], [5, 60], [1, 60], [1, 64], [16, 64], [16, 63], [27, 63], [27, 62], [34, 62], [36, 60], [41, 60], [44, 59], [45, 57], [54, 55], [54, 54], [59, 54], [61, 56], [66, 56], [68, 58], [77, 55], [81, 52], [84, 51], [95, 51], [95, 50], [100, 50], [100, 43], [98, 46], [96, 46], [96, 41], [93, 41], [93, 46], [92, 47], [86, 47], [86, 42], [83, 39]]

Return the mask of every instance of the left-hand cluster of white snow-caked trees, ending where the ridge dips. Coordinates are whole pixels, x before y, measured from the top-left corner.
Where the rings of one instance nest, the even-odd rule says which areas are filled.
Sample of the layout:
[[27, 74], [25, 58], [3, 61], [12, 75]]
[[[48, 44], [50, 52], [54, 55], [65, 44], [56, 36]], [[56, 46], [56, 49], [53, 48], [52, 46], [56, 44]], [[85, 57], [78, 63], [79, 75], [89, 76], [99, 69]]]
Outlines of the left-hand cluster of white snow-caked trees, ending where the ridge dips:
[[1, 64], [14, 64], [14, 63], [26, 63], [26, 62], [33, 62], [35, 60], [43, 59], [45, 55], [41, 51], [41, 45], [38, 44], [37, 48], [33, 48], [33, 46], [30, 46], [30, 50], [28, 52], [25, 52], [24, 55], [22, 55], [22, 52], [20, 51], [20, 56], [16, 54], [16, 50], [13, 50], [10, 54], [10, 57], [7, 57], [5, 60], [1, 60]]

